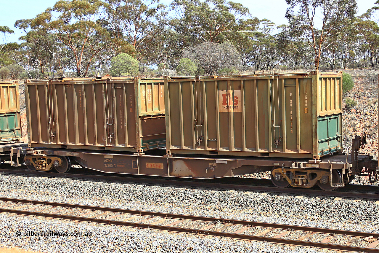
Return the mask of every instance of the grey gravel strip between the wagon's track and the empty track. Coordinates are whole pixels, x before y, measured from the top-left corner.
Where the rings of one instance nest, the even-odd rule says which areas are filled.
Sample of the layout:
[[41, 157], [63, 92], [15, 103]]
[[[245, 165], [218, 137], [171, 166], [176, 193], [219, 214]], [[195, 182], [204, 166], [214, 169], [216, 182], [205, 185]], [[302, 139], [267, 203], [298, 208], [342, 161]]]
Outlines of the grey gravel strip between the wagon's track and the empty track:
[[260, 192], [196, 190], [3, 174], [1, 196], [207, 217], [379, 232], [374, 201], [295, 198]]

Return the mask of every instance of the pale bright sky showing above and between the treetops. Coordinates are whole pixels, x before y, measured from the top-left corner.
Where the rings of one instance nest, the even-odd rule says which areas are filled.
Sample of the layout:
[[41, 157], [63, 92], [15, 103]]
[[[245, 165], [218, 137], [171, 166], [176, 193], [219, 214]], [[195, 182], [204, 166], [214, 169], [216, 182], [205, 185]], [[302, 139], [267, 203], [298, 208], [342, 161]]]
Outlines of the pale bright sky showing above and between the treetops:
[[[52, 7], [56, 0], [0, 0], [0, 26], [8, 26], [14, 30], [14, 34], [9, 36], [7, 43], [19, 42], [18, 38], [23, 34], [17, 28], [14, 28], [14, 22], [19, 19], [31, 19], [37, 14], [42, 13], [45, 9]], [[160, 3], [168, 5], [172, 0], [160, 0]], [[258, 19], [269, 19], [276, 25], [287, 24], [284, 17], [287, 3], [285, 0], [233, 0], [233, 2], [242, 3], [250, 9], [250, 14]], [[376, 0], [357, 0], [358, 15], [361, 15], [375, 6]], [[8, 11], [5, 11], [8, 10]], [[0, 41], [2, 43], [2, 41]]]

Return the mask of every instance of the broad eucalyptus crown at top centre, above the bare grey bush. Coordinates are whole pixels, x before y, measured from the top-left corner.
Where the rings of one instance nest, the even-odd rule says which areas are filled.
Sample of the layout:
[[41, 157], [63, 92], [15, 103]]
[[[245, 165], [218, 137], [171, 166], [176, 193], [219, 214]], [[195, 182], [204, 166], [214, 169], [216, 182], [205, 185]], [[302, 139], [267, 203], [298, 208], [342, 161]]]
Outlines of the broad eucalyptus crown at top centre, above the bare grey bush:
[[241, 3], [225, 0], [175, 0], [168, 25], [179, 34], [182, 48], [202, 41], [233, 40], [235, 32], [250, 30], [256, 20]]

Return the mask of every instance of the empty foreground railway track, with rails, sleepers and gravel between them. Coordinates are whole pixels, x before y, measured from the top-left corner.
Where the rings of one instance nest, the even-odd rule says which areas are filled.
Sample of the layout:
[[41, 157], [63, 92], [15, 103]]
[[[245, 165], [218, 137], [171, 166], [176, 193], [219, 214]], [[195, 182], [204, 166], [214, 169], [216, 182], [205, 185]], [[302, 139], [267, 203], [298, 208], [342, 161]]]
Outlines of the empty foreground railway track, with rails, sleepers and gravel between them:
[[[184, 232], [204, 236], [223, 236], [232, 239], [266, 241], [274, 244], [316, 247], [329, 250], [379, 253], [379, 249], [376, 248], [379, 244], [378, 240], [374, 239], [373, 242], [365, 240], [366, 237], [379, 237], [379, 234], [370, 232], [13, 198], [0, 198], [0, 212], [170, 232]], [[343, 245], [335, 243], [341, 241], [345, 243]], [[362, 245], [365, 247], [362, 247]]]

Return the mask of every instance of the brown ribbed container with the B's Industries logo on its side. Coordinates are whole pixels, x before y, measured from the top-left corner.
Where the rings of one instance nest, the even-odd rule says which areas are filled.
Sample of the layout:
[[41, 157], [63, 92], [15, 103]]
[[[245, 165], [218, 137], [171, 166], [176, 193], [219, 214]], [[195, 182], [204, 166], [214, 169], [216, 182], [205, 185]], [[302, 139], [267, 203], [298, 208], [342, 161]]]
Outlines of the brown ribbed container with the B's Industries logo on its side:
[[168, 153], [318, 159], [342, 150], [342, 74], [164, 77]]

